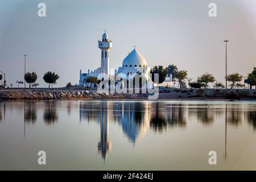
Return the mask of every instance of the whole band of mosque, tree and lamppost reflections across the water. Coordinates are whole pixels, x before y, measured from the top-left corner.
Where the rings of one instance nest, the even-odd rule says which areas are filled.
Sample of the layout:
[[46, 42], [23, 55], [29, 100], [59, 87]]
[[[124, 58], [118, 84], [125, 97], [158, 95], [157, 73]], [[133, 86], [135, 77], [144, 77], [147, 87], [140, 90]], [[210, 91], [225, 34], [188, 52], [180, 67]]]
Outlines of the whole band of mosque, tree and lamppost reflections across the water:
[[[76, 110], [77, 106], [79, 106], [79, 111]], [[46, 125], [54, 125], [59, 120], [58, 113], [60, 110], [71, 118], [76, 118], [78, 116], [76, 114], [79, 114], [79, 121], [74, 122], [97, 123], [99, 138], [93, 143], [95, 148], [97, 147], [98, 155], [104, 160], [113, 150], [112, 141], [114, 139], [112, 137], [116, 135], [116, 133], [111, 133], [111, 131], [113, 132], [111, 130], [113, 125], [122, 129], [121, 132], [125, 139], [130, 142], [131, 146], [135, 146], [138, 143], [137, 140], [147, 132], [153, 132], [160, 136], [170, 130], [172, 132], [175, 130], [186, 131], [187, 127], [191, 126], [190, 122], [193, 121], [200, 124], [199, 126], [193, 125], [199, 130], [218, 123], [218, 132], [222, 136], [220, 141], [224, 151], [224, 160], [228, 159], [228, 146], [232, 140], [228, 135], [229, 126], [235, 126], [234, 129], [236, 130], [242, 126], [249, 126], [256, 131], [255, 104], [150, 101], [12, 101], [0, 102], [0, 122], [5, 121], [6, 116], [6, 121], [8, 121], [13, 110], [18, 110], [16, 114], [19, 114], [19, 118], [24, 118], [24, 135], [26, 124], [36, 125], [40, 119], [43, 119]]]

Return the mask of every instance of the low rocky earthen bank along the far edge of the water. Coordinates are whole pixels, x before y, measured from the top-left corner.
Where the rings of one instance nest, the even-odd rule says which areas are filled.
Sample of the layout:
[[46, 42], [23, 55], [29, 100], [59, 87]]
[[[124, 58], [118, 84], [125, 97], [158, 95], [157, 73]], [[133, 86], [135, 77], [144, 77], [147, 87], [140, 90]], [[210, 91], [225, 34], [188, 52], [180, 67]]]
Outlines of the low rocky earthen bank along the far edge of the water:
[[[0, 100], [148, 100], [148, 94], [106, 93], [96, 89], [13, 88], [0, 89]], [[157, 100], [254, 100], [256, 89], [179, 89], [159, 90]]]

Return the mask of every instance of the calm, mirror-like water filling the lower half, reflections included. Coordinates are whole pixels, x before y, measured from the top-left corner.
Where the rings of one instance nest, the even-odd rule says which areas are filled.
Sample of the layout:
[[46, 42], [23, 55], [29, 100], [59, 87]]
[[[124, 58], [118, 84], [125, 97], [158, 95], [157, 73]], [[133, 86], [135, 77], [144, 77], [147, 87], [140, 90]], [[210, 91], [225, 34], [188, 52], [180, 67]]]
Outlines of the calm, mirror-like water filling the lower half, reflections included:
[[256, 102], [0, 101], [0, 169], [256, 169]]

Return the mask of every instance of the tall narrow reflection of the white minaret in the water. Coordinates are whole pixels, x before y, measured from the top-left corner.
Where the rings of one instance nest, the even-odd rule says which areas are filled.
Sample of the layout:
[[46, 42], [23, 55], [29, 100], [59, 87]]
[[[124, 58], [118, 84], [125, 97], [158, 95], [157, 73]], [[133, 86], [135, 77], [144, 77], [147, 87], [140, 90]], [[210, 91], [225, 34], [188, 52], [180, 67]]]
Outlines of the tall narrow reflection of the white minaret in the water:
[[101, 140], [98, 142], [98, 154], [101, 154], [102, 159], [105, 161], [112, 148], [112, 143], [109, 140], [109, 102], [101, 102], [100, 127]]

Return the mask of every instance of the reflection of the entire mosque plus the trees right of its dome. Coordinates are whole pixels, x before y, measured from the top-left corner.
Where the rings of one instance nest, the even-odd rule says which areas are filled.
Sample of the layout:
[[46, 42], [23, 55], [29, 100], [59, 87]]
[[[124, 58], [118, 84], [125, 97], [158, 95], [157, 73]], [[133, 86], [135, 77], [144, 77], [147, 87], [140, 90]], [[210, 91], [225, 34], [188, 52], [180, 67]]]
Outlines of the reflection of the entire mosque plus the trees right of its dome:
[[183, 107], [166, 107], [159, 102], [81, 102], [80, 122], [99, 122], [98, 154], [105, 160], [111, 151], [109, 122], [118, 123], [128, 140], [135, 145], [148, 129], [162, 133], [167, 127], [185, 127]]

